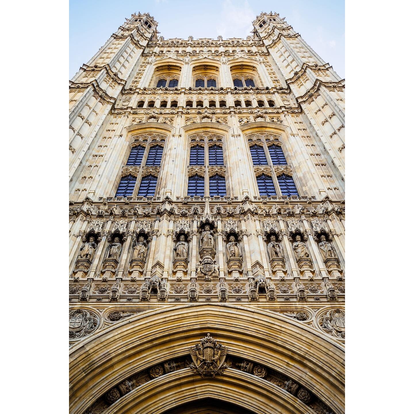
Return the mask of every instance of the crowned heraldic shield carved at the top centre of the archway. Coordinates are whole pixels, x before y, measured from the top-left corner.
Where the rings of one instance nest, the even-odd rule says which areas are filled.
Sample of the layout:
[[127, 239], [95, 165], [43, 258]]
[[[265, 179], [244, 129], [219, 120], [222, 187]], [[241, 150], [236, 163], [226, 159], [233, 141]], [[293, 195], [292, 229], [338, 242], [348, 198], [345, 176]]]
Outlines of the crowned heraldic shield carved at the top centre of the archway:
[[224, 364], [226, 352], [226, 347], [219, 344], [208, 333], [200, 344], [190, 348], [191, 359], [193, 360], [190, 368], [202, 377], [214, 377], [216, 374], [222, 374], [224, 368], [226, 368], [226, 364]]

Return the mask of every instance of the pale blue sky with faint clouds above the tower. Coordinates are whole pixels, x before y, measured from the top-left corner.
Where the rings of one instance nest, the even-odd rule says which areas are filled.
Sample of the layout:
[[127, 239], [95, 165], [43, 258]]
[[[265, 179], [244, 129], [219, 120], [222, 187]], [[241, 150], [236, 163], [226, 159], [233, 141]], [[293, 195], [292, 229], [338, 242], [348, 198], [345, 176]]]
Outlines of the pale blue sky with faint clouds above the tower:
[[277, 12], [345, 77], [344, 0], [70, 0], [69, 78], [134, 12], [149, 12], [165, 39], [246, 38], [260, 12]]

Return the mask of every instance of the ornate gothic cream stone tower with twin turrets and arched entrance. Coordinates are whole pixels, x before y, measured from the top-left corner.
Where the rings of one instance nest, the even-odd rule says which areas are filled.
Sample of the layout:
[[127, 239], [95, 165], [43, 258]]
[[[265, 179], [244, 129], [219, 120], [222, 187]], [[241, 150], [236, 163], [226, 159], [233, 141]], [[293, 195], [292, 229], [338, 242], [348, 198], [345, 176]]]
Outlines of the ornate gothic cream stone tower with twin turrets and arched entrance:
[[132, 14], [69, 128], [70, 413], [344, 413], [344, 79]]

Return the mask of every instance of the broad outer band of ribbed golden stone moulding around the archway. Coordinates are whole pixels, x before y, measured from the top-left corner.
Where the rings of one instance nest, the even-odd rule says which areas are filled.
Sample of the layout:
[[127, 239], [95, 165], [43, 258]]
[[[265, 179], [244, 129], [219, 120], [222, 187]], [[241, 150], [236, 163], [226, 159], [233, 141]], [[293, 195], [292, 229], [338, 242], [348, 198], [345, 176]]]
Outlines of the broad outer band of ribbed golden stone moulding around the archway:
[[[217, 306], [221, 308], [217, 309]], [[97, 396], [137, 371], [173, 356], [187, 355], [188, 347], [199, 342], [206, 332], [219, 338], [230, 354], [284, 373], [310, 390], [335, 413], [344, 413], [344, 348], [340, 344], [287, 316], [225, 303], [167, 306], [142, 312], [80, 340], [70, 353], [70, 413], [83, 414]], [[237, 373], [235, 398], [240, 397], [241, 388], [246, 386], [246, 383], [240, 383], [240, 375], [244, 373]], [[226, 373], [228, 381], [230, 376]], [[143, 387], [159, 387], [163, 380], [157, 378], [151, 382], [153, 385]], [[204, 380], [207, 382], [200, 389], [211, 384], [211, 396], [220, 393], [219, 383], [214, 383], [217, 378]], [[189, 381], [194, 383], [193, 373]], [[249, 383], [251, 379], [246, 381]], [[260, 382], [259, 388], [263, 386]], [[272, 384], [262, 392], [274, 394], [273, 400], [282, 398], [280, 391], [279, 394], [275, 390], [270, 392], [269, 387], [272, 388]], [[227, 388], [229, 385], [223, 389], [227, 392]], [[146, 393], [142, 387], [140, 390]], [[255, 393], [259, 397], [255, 397]], [[198, 395], [201, 394], [200, 391]], [[249, 398], [253, 401], [264, 396], [253, 389], [246, 391], [246, 400]], [[163, 400], [159, 401], [161, 404]], [[122, 410], [120, 412], [127, 412]], [[287, 412], [306, 412], [303, 407], [301, 410]], [[116, 411], [111, 409], [109, 412]]]

